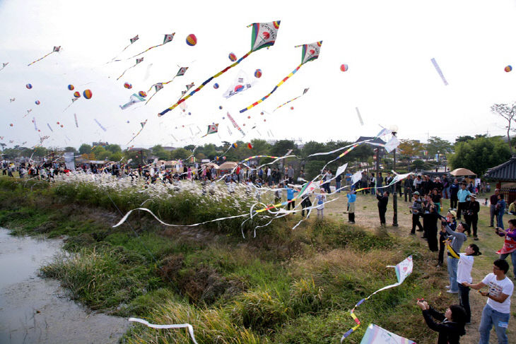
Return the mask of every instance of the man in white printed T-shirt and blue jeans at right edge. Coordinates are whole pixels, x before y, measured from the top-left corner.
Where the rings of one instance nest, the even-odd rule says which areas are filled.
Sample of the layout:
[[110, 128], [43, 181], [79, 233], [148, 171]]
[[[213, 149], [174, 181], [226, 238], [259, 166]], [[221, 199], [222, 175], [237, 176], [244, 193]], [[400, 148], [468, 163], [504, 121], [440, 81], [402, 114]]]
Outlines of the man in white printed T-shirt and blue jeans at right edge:
[[487, 292], [480, 292], [487, 297], [486, 306], [483, 307], [480, 321], [480, 340], [479, 344], [489, 343], [491, 328], [495, 326], [498, 343], [507, 344], [508, 322], [510, 319], [510, 296], [514, 291], [514, 283], [505, 275], [509, 270], [509, 263], [503, 259], [493, 262], [493, 273], [489, 273], [483, 280], [476, 284], [464, 283], [465, 286], [479, 290], [488, 287]]

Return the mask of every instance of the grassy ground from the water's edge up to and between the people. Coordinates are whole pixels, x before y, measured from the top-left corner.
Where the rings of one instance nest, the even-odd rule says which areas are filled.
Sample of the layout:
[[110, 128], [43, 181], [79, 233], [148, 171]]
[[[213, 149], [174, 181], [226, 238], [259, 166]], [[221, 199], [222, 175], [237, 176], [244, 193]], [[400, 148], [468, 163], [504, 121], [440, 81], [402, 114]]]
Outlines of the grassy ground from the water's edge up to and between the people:
[[[145, 206], [165, 221], [182, 224], [249, 211], [246, 201], [228, 210], [225, 198], [210, 203], [210, 197], [171, 194]], [[445, 292], [447, 273], [435, 268], [436, 254], [423, 239], [409, 236], [409, 204], [400, 199], [399, 227], [387, 229], [380, 228], [370, 195], [358, 195], [356, 225], [347, 225], [345, 194], [327, 205], [322, 221], [313, 214], [291, 230], [300, 214], [288, 215], [257, 231], [256, 238], [254, 226], [266, 219], [249, 221], [246, 239], [239, 219], [209, 227], [165, 227], [136, 213], [124, 225], [111, 227], [122, 217], [117, 208], [124, 213], [148, 199], [131, 189], [48, 187], [0, 178], [0, 225], [15, 234], [66, 237], [66, 253], [42, 267], [42, 274], [61, 280], [78, 302], [156, 324], [192, 324], [199, 343], [338, 343], [355, 324], [349, 309], [394, 283], [394, 270], [385, 266], [409, 255], [414, 273], [403, 285], [358, 307], [363, 326], [346, 342], [360, 343], [365, 327], [374, 323], [417, 343], [435, 343], [436, 333], [426, 328], [416, 299], [424, 297], [443, 311], [457, 302], [456, 295]], [[391, 223], [392, 198], [387, 219]], [[482, 207], [476, 243], [483, 255], [475, 260], [474, 280], [491, 272], [494, 252], [503, 244], [487, 225], [488, 208]], [[462, 343], [478, 341], [485, 298], [471, 292], [471, 302], [473, 324]], [[516, 343], [514, 309], [510, 343]], [[184, 330], [139, 325], [125, 340], [190, 343]]]

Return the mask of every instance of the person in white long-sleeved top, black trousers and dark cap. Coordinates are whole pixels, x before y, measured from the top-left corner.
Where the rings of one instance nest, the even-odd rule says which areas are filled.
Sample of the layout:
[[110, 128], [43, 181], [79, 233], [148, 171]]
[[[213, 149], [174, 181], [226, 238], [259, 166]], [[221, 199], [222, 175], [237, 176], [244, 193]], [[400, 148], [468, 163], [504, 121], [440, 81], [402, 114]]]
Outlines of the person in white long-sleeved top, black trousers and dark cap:
[[469, 287], [464, 283], [473, 282], [471, 278], [471, 269], [473, 268], [474, 256], [480, 256], [482, 253], [476, 244], [471, 244], [464, 250], [465, 253], [459, 253], [459, 264], [457, 267], [457, 285], [459, 286], [459, 304], [466, 311], [466, 324], [471, 323], [471, 307], [469, 307]]

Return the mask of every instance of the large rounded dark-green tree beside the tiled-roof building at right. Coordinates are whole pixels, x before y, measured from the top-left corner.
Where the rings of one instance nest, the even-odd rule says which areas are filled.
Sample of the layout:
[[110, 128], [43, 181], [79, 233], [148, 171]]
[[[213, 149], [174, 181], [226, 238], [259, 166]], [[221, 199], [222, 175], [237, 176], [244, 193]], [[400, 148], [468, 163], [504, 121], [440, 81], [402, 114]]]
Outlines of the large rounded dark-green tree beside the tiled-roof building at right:
[[481, 176], [488, 168], [500, 165], [510, 156], [508, 144], [500, 136], [495, 136], [457, 143], [455, 153], [448, 161], [454, 169], [464, 167]]

